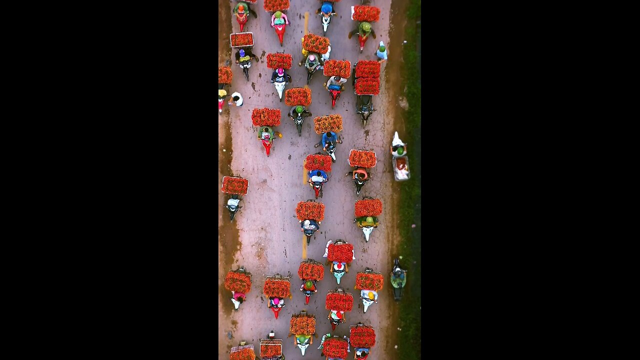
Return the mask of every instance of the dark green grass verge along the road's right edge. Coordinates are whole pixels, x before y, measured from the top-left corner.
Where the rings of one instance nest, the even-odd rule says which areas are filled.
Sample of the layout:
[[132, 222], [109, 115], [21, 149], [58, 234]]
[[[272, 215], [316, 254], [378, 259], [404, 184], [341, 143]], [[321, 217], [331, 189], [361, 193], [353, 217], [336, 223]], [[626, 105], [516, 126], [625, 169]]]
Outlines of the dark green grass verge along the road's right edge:
[[[403, 300], [399, 308], [399, 325], [402, 330], [398, 334], [397, 352], [398, 359], [420, 359], [420, 326], [422, 311], [420, 310], [420, 270], [421, 270], [421, 244], [420, 244], [420, 82], [408, 81], [417, 76], [420, 66], [417, 53], [417, 24], [420, 20], [420, 0], [410, 0], [407, 11], [407, 26], [405, 28], [403, 45], [404, 74], [403, 82], [407, 84], [406, 99], [409, 110], [404, 111], [403, 117], [406, 123], [406, 140], [408, 143], [409, 166], [411, 179], [401, 183], [400, 192], [400, 224], [399, 235], [401, 238], [398, 255], [403, 258], [400, 265], [408, 270], [407, 288], [404, 290]], [[415, 228], [411, 225], [416, 224]], [[393, 329], [393, 331], [397, 331]]]

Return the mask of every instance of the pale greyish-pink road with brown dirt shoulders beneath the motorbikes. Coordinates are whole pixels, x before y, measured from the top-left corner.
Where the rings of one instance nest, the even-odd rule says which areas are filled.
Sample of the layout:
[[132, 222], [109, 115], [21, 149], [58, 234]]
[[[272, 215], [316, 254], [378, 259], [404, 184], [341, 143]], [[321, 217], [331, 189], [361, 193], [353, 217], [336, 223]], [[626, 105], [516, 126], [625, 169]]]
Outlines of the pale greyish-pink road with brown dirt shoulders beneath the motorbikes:
[[[229, 51], [228, 32], [230, 28], [233, 32], [239, 32], [239, 25], [231, 15], [236, 2], [221, 0], [219, 4], [220, 14], [229, 14], [221, 16], [221, 28], [218, 29], [218, 65], [223, 66], [235, 55], [235, 51]], [[307, 349], [305, 356], [319, 357], [320, 350], [317, 350], [317, 347], [322, 334], [332, 332], [338, 336], [348, 335], [349, 325], [355, 325], [360, 321], [371, 324], [376, 329], [376, 346], [372, 348], [372, 356], [394, 358], [391, 352], [397, 344], [395, 333], [391, 332], [395, 332], [396, 329], [392, 328], [390, 323], [396, 304], [388, 284], [388, 273], [392, 265], [390, 254], [394, 253], [393, 246], [396, 240], [394, 234], [397, 220], [394, 212], [390, 210], [396, 207], [392, 194], [397, 191], [397, 183], [394, 181], [388, 148], [394, 131], [399, 131], [402, 138], [404, 129], [401, 124], [394, 123], [397, 119], [395, 110], [401, 101], [396, 95], [391, 97], [390, 92], [397, 92], [397, 87], [392, 88], [385, 84], [385, 79], [389, 78], [387, 66], [390, 66], [390, 61], [382, 65], [380, 95], [374, 96], [373, 100], [378, 111], [374, 112], [366, 127], [362, 126], [360, 115], [355, 113], [356, 96], [353, 94], [351, 79], [345, 85], [346, 90], [340, 94], [335, 110], [331, 109], [330, 96], [323, 87], [323, 82], [326, 83], [328, 78], [317, 72], [311, 80], [309, 87], [312, 90], [312, 104], [308, 107], [309, 111], [314, 117], [333, 113], [342, 115], [344, 131], [339, 135], [344, 143], [337, 145], [337, 162], [332, 166], [329, 182], [324, 185], [323, 198], [318, 199], [326, 206], [325, 218], [320, 225], [321, 231], [316, 233], [308, 246], [300, 232], [295, 208], [298, 201], [314, 199], [314, 191], [305, 184], [303, 160], [308, 154], [314, 154], [319, 150], [314, 149], [319, 135], [313, 130], [311, 117], [305, 120], [302, 135], [298, 136], [295, 124], [285, 115], [289, 107], [285, 106], [284, 99], [280, 102], [275, 87], [269, 83], [272, 70], [266, 67], [266, 54], [284, 50], [294, 57], [294, 65], [288, 72], [292, 77], [292, 84], [287, 85], [287, 88], [306, 84], [306, 71], [304, 67], [297, 65], [301, 59], [300, 38], [305, 33], [305, 13], [308, 13], [308, 32], [330, 39], [331, 59], [349, 60], [352, 64], [358, 60], [376, 60], [374, 52], [381, 40], [388, 46], [390, 58], [393, 58], [394, 54], [399, 56], [401, 44], [390, 41], [388, 35], [391, 4], [382, 0], [371, 1], [371, 5], [381, 9], [380, 21], [372, 23], [377, 38], [367, 41], [362, 54], [357, 35], [348, 38], [348, 32], [357, 26], [357, 23], [351, 20], [351, 6], [360, 4], [360, 1], [342, 0], [337, 3], [338, 15], [333, 17], [326, 35], [323, 35], [319, 15], [315, 15], [320, 1], [291, 1], [291, 8], [286, 12], [291, 25], [286, 28], [283, 47], [280, 47], [278, 37], [270, 26], [271, 15], [264, 11], [262, 4], [262, 0], [252, 4], [258, 18], [250, 17], [244, 30], [253, 32], [253, 53], [257, 54], [261, 61], [252, 61], [249, 81], [244, 79], [242, 70], [234, 64], [233, 82], [227, 90], [228, 94], [240, 92], [244, 97], [244, 106], [228, 108], [225, 104], [225, 110], [218, 115], [218, 357], [226, 359], [230, 348], [243, 339], [258, 348], [259, 338], [266, 337], [269, 331], [274, 330], [277, 338], [285, 340], [285, 356], [289, 359], [300, 358], [300, 349], [293, 345], [293, 337], [287, 338], [287, 335], [291, 315], [305, 309], [317, 316], [316, 333], [319, 335], [314, 344]], [[397, 72], [399, 60], [396, 61], [393, 68]], [[231, 63], [234, 63], [234, 60]], [[392, 78], [395, 79], [397, 76]], [[283, 113], [281, 125], [275, 128], [283, 137], [275, 140], [269, 158], [262, 144], [256, 139], [257, 128], [252, 126], [251, 121], [253, 108], [264, 107], [279, 108]], [[370, 174], [371, 181], [365, 184], [360, 195], [356, 195], [350, 177], [344, 176], [346, 172], [351, 171], [347, 160], [350, 149], [372, 150], [378, 158], [378, 164], [372, 168]], [[241, 201], [243, 208], [237, 213], [234, 222], [229, 221], [227, 209], [222, 208], [228, 195], [220, 192], [220, 184], [222, 176], [227, 175], [249, 179], [248, 195]], [[368, 243], [365, 243], [362, 231], [353, 224], [354, 203], [364, 196], [375, 197], [383, 202], [383, 213], [379, 217], [381, 224], [371, 233]], [[326, 320], [328, 311], [324, 308], [324, 300], [327, 291], [334, 290], [337, 286], [335, 277], [329, 273], [328, 266], [324, 266], [324, 279], [318, 283], [318, 292], [311, 297], [308, 306], [305, 306], [305, 297], [298, 290], [301, 281], [297, 271], [300, 261], [306, 258], [324, 263], [326, 258], [322, 256], [326, 242], [338, 238], [347, 240], [355, 247], [356, 260], [349, 266], [349, 273], [344, 275], [340, 282], [342, 288], [353, 293], [355, 306], [353, 311], [347, 313], [347, 322], [338, 325], [335, 331], [332, 331], [330, 323]], [[248, 293], [248, 301], [240, 306], [239, 311], [234, 311], [230, 302], [231, 294], [225, 290], [223, 280], [228, 270], [236, 269], [239, 265], [252, 272], [252, 290]], [[382, 272], [385, 276], [385, 287], [380, 291], [378, 304], [372, 304], [367, 313], [362, 312], [358, 291], [353, 289], [356, 272], [364, 271], [365, 266]], [[287, 306], [280, 313], [278, 320], [275, 320], [273, 313], [267, 308], [268, 299], [262, 293], [264, 277], [275, 273], [292, 275], [293, 299], [285, 299]], [[383, 354], [387, 354], [388, 357], [383, 357]], [[349, 354], [349, 358], [351, 357], [353, 352]]]

